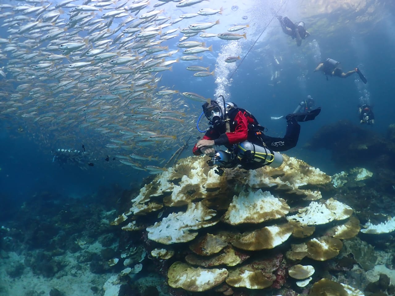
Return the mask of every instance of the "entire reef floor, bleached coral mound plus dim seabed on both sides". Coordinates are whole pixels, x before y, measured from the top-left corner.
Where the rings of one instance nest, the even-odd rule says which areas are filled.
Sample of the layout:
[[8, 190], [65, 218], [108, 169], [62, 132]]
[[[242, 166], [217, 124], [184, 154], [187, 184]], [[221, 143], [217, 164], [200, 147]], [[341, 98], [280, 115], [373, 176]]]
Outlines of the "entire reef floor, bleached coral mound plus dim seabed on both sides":
[[283, 156], [222, 176], [188, 157], [134, 190], [33, 196], [0, 227], [0, 294], [393, 295], [378, 169], [328, 176]]

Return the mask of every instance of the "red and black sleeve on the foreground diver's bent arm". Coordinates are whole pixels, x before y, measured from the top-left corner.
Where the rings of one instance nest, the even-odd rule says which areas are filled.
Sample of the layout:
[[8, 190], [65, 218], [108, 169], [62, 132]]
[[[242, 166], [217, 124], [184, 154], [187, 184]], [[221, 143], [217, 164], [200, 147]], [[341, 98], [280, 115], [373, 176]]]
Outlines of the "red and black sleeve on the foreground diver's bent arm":
[[[230, 133], [223, 133], [218, 136], [218, 131], [211, 127], [207, 133], [203, 136], [203, 140], [214, 140], [216, 145], [228, 145], [228, 144], [236, 144], [243, 141], [247, 141], [248, 137], [248, 121], [254, 121], [250, 117], [246, 117], [243, 112], [239, 111], [235, 115], [235, 118], [230, 118], [231, 122], [237, 122], [237, 126], [235, 130]], [[252, 123], [250, 122], [250, 123]], [[232, 125], [231, 125], [232, 126]], [[231, 127], [232, 128], [232, 127]], [[213, 137], [211, 137], [213, 135]], [[200, 149], [196, 148], [196, 144], [192, 149], [193, 154], [201, 155]]]

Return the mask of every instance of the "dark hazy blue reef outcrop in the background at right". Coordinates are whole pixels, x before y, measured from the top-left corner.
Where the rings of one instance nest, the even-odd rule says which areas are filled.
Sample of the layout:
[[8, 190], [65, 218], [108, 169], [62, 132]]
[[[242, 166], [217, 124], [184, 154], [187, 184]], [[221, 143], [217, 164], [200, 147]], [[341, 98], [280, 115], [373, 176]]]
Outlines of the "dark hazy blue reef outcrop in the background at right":
[[[346, 139], [346, 141], [345, 141]], [[395, 180], [395, 124], [387, 127], [385, 135], [357, 126], [348, 120], [321, 127], [305, 145], [311, 150], [329, 150], [331, 161], [339, 170], [364, 167], [372, 172], [371, 186], [393, 191]]]

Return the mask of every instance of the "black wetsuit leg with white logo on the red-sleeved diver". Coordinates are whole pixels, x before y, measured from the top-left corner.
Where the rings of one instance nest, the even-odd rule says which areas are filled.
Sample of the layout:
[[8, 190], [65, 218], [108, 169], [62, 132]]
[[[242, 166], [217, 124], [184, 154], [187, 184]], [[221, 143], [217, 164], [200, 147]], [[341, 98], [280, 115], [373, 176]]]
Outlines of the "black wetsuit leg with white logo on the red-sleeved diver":
[[266, 146], [273, 151], [286, 151], [296, 146], [299, 139], [300, 125], [295, 118], [288, 121], [284, 138], [275, 138], [264, 135], [262, 137]]

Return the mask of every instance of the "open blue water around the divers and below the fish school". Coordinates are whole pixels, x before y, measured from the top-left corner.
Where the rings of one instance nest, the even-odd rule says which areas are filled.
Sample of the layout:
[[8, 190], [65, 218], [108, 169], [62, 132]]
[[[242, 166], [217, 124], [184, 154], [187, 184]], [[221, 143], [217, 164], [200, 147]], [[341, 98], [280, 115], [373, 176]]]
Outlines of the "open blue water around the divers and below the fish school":
[[[241, 22], [244, 13], [232, 11], [229, 9], [228, 2], [226, 4], [224, 15], [230, 15], [237, 23]], [[303, 5], [301, 9], [306, 7], [306, 4]], [[274, 4], [273, 7], [277, 9], [280, 4]], [[287, 4], [281, 7], [282, 10], [279, 12], [288, 15], [291, 19], [296, 20], [303, 15], [302, 11], [295, 10], [295, 7], [298, 7], [297, 4]], [[267, 127], [268, 135], [280, 137], [285, 133], [285, 121], [270, 120], [270, 116], [292, 112], [301, 100], [311, 95], [316, 100], [316, 105], [322, 107], [322, 112], [314, 122], [302, 123], [297, 147], [286, 154], [320, 167], [328, 174], [338, 172], [341, 168], [333, 166], [328, 152], [312, 152], [304, 148], [304, 144], [322, 126], [339, 120], [350, 120], [358, 124], [357, 107], [360, 97], [365, 97], [369, 101], [376, 114], [376, 124], [366, 126], [366, 129], [384, 134], [387, 126], [393, 123], [394, 103], [391, 97], [394, 92], [392, 77], [395, 70], [392, 63], [392, 49], [395, 39], [392, 31], [395, 19], [391, 14], [391, 9], [391, 4], [377, 5], [371, 18], [366, 20], [359, 20], [358, 17], [369, 14], [367, 10], [355, 11], [350, 17], [348, 9], [338, 9], [331, 14], [306, 17], [307, 30], [310, 31], [311, 36], [303, 40], [301, 47], [296, 47], [295, 42], [282, 33], [278, 21], [273, 19], [273, 13], [266, 10], [260, 11], [263, 18], [258, 18], [259, 21], [255, 19], [250, 23], [250, 29], [254, 33], [250, 34], [247, 30], [248, 39], [240, 40], [240, 42], [245, 41], [241, 45], [241, 58], [246, 57], [235, 73], [230, 71], [233, 74], [233, 82], [228, 87], [227, 99], [252, 111], [261, 125]], [[253, 10], [247, 9], [251, 15]], [[353, 18], [358, 19], [357, 22], [354, 22]], [[253, 17], [250, 16], [246, 22], [252, 19]], [[322, 22], [322, 19], [325, 19], [325, 22]], [[269, 26], [266, 28], [267, 24]], [[263, 30], [265, 34], [251, 48], [253, 41]], [[6, 38], [7, 34], [4, 33], [1, 37]], [[175, 47], [177, 42], [173, 40], [175, 39], [163, 44], [169, 45], [169, 50], [177, 49]], [[218, 54], [224, 51], [224, 42], [218, 39], [205, 41], [213, 45], [213, 52], [204, 54], [204, 64], [210, 65], [210, 69], [213, 70]], [[317, 57], [317, 52], [319, 57]], [[279, 65], [274, 65], [274, 56], [277, 59], [281, 58]], [[340, 61], [345, 71], [358, 66], [367, 77], [368, 84], [364, 85], [359, 79], [354, 81], [358, 78], [357, 75], [352, 75], [347, 79], [329, 77], [326, 81], [322, 73], [313, 73], [318, 60], [327, 57]], [[237, 63], [240, 62], [241, 60]], [[2, 60], [2, 66], [5, 64], [6, 60]], [[218, 87], [215, 81], [217, 75], [196, 78], [190, 73], [185, 73], [185, 65], [185, 63], [174, 64], [171, 72], [163, 73], [159, 86], [171, 87], [180, 92], [196, 92], [201, 96], [214, 98]], [[271, 81], [273, 70], [281, 73], [279, 83], [273, 84]], [[201, 103], [190, 101], [187, 104], [187, 116], [200, 114]], [[177, 107], [175, 105], [174, 109], [177, 110]], [[60, 167], [52, 162], [53, 156], [51, 155], [51, 149], [57, 148], [54, 144], [58, 137], [56, 131], [48, 130], [48, 134], [41, 139], [39, 134], [30, 133], [31, 127], [26, 129], [26, 125], [30, 125], [31, 122], [24, 121], [18, 115], [7, 114], [0, 118], [0, 151], [2, 152], [0, 194], [4, 197], [11, 197], [8, 200], [20, 203], [26, 197], [41, 191], [83, 197], [96, 192], [98, 187], [105, 185], [118, 184], [127, 189], [130, 184], [139, 184], [143, 177], [149, 176], [147, 172], [132, 170], [127, 166], [109, 165], [104, 161], [106, 154], [97, 155], [95, 166], [87, 170], [81, 170], [78, 167]], [[207, 127], [204, 122], [201, 122], [201, 126]], [[37, 129], [36, 132], [40, 133], [40, 130]], [[201, 134], [195, 129], [192, 136], [190, 147], [182, 154], [183, 157], [192, 154], [194, 139]], [[94, 130], [85, 129], [75, 141], [68, 143], [69, 146], [64, 148], [81, 149], [83, 144], [89, 148], [90, 142], [94, 139], [98, 142], [102, 141], [101, 135]], [[346, 143], [347, 139], [344, 141]], [[106, 143], [103, 141], [103, 144]], [[174, 150], [176, 148], [177, 146]], [[165, 155], [165, 158], [172, 155], [172, 151], [161, 151], [161, 149], [156, 150], [155, 145], [147, 148], [153, 155], [157, 153]], [[374, 157], [374, 155], [368, 155], [367, 158], [369, 157]]]

